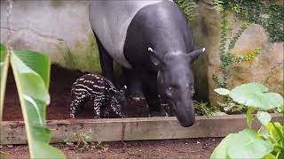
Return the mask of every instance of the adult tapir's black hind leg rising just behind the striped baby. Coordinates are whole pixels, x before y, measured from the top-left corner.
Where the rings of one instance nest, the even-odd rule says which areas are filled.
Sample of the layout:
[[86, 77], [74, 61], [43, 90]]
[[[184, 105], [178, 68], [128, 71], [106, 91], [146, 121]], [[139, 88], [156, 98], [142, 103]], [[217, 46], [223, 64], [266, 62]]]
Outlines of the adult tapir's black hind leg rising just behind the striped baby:
[[104, 46], [101, 44], [101, 42], [99, 42], [99, 38], [96, 34], [95, 37], [99, 48], [99, 62], [103, 76], [105, 76], [106, 79], [109, 79], [111, 82], [114, 82], [113, 58], [109, 56]]

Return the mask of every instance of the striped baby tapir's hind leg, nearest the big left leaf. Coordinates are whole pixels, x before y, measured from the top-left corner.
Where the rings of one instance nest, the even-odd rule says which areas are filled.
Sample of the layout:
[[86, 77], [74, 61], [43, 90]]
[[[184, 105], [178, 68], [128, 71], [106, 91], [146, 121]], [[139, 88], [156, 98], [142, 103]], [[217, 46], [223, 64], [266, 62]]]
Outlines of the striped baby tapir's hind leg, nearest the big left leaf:
[[70, 105], [70, 117], [76, 117], [78, 114], [78, 109], [82, 109], [84, 102], [87, 101], [87, 95], [75, 95], [72, 97], [72, 102]]

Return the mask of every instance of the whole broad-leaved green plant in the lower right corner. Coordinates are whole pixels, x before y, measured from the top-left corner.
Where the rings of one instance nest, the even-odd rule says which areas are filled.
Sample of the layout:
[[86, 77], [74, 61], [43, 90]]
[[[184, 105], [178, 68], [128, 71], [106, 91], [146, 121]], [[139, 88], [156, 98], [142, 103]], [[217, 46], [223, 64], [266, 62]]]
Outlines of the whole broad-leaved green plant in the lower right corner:
[[[248, 83], [233, 90], [217, 88], [219, 95], [231, 97], [234, 102], [248, 107], [248, 128], [240, 133], [230, 133], [214, 149], [211, 159], [215, 158], [275, 158], [284, 156], [283, 125], [271, 122], [271, 115], [266, 110], [283, 108], [283, 97], [269, 93], [268, 88], [258, 83]], [[258, 110], [256, 118], [262, 127], [256, 132], [251, 129], [252, 112]]]

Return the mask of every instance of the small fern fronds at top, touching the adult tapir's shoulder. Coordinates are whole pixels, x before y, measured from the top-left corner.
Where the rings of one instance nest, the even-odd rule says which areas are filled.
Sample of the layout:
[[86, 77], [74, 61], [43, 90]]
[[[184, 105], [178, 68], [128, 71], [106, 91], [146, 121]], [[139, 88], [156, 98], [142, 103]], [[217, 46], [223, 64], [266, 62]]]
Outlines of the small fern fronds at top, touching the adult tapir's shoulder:
[[198, 5], [194, 0], [174, 0], [174, 2], [185, 12], [186, 19], [189, 21], [198, 15]]

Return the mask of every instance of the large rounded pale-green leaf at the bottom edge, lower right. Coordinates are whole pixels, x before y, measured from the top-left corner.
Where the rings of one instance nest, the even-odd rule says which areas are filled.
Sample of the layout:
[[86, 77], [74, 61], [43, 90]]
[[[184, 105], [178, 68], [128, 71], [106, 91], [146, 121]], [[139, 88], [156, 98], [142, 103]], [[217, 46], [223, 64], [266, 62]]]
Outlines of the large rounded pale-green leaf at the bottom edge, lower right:
[[255, 131], [245, 129], [226, 136], [210, 158], [262, 158], [271, 152], [272, 144], [269, 141], [257, 138]]

